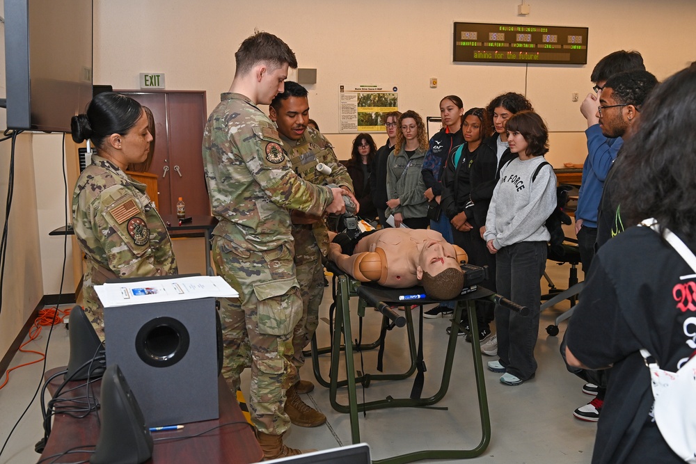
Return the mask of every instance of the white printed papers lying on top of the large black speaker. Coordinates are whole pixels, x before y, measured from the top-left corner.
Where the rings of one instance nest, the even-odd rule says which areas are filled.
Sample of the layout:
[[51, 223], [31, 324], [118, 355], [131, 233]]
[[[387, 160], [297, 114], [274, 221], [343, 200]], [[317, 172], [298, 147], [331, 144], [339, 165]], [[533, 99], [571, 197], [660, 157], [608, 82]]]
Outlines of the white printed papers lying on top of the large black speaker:
[[196, 300], [197, 298], [237, 298], [239, 293], [219, 275], [195, 275], [139, 282], [114, 282], [95, 285], [104, 307], [144, 305], [164, 301]]

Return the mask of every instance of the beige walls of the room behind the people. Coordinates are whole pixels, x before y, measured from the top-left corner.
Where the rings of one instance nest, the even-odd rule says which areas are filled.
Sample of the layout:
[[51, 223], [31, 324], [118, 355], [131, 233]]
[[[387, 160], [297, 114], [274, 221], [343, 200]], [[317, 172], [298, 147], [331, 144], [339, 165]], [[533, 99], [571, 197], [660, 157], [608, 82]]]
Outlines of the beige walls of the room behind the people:
[[[138, 88], [140, 72], [164, 72], [169, 89], [205, 90], [212, 110], [219, 94], [230, 87], [239, 43], [258, 28], [283, 38], [300, 67], [317, 68], [317, 83], [308, 86], [311, 115], [342, 159], [349, 156], [354, 134], [337, 134], [338, 86], [379, 83], [397, 86], [402, 111], [414, 109], [423, 116], [438, 115], [439, 100], [450, 93], [461, 96], [468, 108], [483, 106], [498, 93], [523, 93], [526, 88], [551, 130], [548, 158], [560, 166], [565, 161], [581, 163], [585, 157], [585, 122], [571, 94], [579, 93], [582, 99], [591, 90], [590, 72], [599, 58], [616, 49], [638, 49], [658, 79], [696, 59], [689, 47], [696, 17], [693, 0], [537, 0], [528, 17], [516, 15], [519, 3], [95, 0], [94, 81]], [[587, 26], [590, 64], [453, 64], [454, 21]], [[431, 77], [438, 78], [438, 88], [429, 88]], [[4, 86], [4, 78], [0, 80]], [[42, 294], [58, 293], [61, 281], [63, 242], [47, 235], [63, 224], [61, 137], [33, 138], [32, 143], [31, 136], [24, 136], [17, 156], [18, 175], [23, 177], [16, 182], [13, 215], [17, 216], [10, 227], [8, 266], [10, 258], [19, 256], [22, 271], [6, 267], [12, 282], [6, 282], [3, 296], [0, 353], [24, 323], [27, 311]], [[376, 138], [383, 141], [381, 134]], [[6, 182], [8, 153], [8, 143], [0, 145], [0, 182]], [[5, 190], [0, 184], [0, 198]], [[74, 288], [76, 282], [71, 280], [66, 280], [64, 291], [70, 291], [69, 285]]]

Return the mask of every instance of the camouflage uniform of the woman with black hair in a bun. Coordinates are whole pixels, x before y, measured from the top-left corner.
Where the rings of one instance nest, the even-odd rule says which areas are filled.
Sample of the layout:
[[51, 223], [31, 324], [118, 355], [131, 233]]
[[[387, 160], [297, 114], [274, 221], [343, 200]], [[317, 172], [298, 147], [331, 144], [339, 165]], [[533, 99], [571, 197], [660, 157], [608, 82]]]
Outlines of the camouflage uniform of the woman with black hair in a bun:
[[77, 179], [72, 227], [86, 255], [85, 312], [104, 339], [104, 307], [94, 286], [118, 277], [177, 273], [172, 243], [145, 184], [97, 155]]

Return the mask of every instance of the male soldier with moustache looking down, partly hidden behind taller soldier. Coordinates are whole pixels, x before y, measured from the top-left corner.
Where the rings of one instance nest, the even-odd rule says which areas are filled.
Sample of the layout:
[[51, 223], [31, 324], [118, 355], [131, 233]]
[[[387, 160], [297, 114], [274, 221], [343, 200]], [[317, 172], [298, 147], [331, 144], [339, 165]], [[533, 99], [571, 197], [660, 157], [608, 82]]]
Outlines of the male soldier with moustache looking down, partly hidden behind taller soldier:
[[[309, 102], [307, 89], [292, 81], [285, 82], [285, 91], [271, 102], [269, 117], [276, 122], [293, 170], [315, 185], [337, 184], [353, 191], [353, 183], [345, 166], [338, 162], [333, 146], [319, 131], [308, 128]], [[317, 164], [331, 168], [326, 175]], [[352, 195], [351, 195], [352, 196]], [[357, 203], [353, 197], [354, 202]], [[285, 412], [293, 424], [315, 427], [326, 422], [326, 416], [304, 403], [297, 395], [314, 389], [310, 381], [300, 381], [299, 369], [304, 365], [302, 350], [312, 339], [319, 325], [319, 305], [324, 296], [324, 265], [322, 257], [329, 251], [329, 234], [324, 219], [292, 211], [292, 237], [295, 242], [295, 267], [302, 296], [302, 317], [294, 328], [292, 362], [297, 369], [293, 387], [287, 392]]]

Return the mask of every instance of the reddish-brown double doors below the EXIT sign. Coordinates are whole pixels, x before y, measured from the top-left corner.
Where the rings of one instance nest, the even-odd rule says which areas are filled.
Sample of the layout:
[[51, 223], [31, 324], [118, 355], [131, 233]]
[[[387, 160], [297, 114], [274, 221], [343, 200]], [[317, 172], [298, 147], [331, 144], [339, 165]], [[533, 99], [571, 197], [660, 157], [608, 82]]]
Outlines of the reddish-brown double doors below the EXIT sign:
[[155, 155], [148, 172], [157, 176], [160, 214], [176, 214], [179, 197], [186, 214], [209, 215], [201, 143], [207, 119], [205, 92], [183, 90], [116, 90], [155, 116]]

